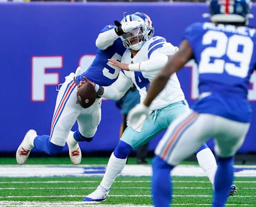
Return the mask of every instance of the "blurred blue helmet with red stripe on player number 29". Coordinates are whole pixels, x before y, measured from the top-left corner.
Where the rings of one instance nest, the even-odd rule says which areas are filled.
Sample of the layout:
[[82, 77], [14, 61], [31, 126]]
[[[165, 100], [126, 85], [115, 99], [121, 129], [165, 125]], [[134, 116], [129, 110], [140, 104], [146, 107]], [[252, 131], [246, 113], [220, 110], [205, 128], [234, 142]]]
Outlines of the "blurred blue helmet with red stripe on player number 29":
[[210, 20], [246, 23], [251, 5], [251, 0], [210, 0]]

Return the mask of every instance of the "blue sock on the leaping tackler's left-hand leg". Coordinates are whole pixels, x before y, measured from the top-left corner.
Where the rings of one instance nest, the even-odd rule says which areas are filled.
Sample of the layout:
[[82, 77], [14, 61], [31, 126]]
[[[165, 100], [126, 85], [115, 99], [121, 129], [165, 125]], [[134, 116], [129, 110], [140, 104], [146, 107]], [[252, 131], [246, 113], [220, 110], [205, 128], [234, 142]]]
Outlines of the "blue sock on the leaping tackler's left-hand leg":
[[35, 148], [47, 153], [48, 155], [56, 155], [60, 153], [63, 147], [52, 144], [49, 138], [50, 136], [48, 135], [37, 136], [34, 140]]

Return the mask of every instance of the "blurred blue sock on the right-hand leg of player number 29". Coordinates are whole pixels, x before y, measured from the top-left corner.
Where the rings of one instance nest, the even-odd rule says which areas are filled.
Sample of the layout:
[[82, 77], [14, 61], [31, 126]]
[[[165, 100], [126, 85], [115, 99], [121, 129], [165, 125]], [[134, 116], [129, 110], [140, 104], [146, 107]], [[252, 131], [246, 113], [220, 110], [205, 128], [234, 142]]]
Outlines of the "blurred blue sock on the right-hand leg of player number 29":
[[230, 187], [234, 180], [234, 157], [217, 157], [218, 168], [214, 179], [214, 196], [212, 207], [224, 207]]

